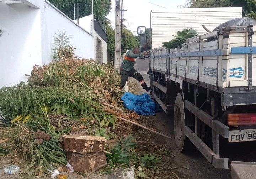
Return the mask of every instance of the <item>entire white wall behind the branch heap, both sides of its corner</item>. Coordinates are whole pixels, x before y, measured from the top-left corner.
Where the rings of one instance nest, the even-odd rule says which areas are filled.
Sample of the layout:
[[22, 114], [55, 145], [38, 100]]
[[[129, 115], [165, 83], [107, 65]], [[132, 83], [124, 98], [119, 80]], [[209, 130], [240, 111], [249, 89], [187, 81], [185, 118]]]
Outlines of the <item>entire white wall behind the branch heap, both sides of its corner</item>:
[[0, 2], [0, 88], [27, 82], [35, 64], [52, 61], [53, 37], [59, 30], [71, 35], [75, 55], [94, 58], [94, 36], [74, 23], [48, 1]]

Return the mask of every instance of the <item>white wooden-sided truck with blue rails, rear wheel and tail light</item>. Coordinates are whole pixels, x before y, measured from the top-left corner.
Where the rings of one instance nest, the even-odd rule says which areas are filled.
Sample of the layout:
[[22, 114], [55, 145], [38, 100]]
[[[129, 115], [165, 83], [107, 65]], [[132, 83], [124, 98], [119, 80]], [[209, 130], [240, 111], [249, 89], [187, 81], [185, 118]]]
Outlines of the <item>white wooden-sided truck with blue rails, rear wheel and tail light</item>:
[[256, 140], [256, 35], [254, 26], [226, 27], [187, 39], [182, 48], [150, 51], [151, 97], [174, 110], [180, 151], [188, 139], [215, 168], [219, 140]]

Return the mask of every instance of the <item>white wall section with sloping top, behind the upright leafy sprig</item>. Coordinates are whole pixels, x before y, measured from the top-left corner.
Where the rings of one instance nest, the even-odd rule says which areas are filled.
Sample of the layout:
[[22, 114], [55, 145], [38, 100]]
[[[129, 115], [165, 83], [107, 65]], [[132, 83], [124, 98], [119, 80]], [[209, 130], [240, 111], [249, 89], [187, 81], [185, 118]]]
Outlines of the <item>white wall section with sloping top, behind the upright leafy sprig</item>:
[[43, 63], [48, 63], [52, 60], [54, 45], [53, 37], [59, 30], [66, 31], [66, 35], [71, 35], [70, 44], [75, 49], [75, 55], [80, 58], [94, 58], [94, 37], [85, 29], [78, 26], [71, 19], [64, 17], [60, 11], [57, 11], [46, 2], [44, 11], [42, 11], [42, 59]]

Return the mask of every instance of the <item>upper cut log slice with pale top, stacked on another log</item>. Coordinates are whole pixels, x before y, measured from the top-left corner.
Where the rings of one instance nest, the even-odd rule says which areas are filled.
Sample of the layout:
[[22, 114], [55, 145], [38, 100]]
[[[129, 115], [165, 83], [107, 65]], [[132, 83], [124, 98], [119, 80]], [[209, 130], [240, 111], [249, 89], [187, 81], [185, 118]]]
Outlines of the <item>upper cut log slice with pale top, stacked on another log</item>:
[[64, 149], [69, 152], [90, 153], [104, 150], [106, 139], [91, 135], [63, 135]]

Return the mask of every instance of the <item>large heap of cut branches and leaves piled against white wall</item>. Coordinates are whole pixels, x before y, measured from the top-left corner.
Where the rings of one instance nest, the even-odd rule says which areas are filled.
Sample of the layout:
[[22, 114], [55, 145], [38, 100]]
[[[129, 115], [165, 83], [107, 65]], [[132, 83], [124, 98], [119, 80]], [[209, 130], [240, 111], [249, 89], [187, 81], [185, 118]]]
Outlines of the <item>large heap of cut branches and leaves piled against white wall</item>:
[[[82, 131], [117, 141], [133, 133], [121, 119], [136, 122], [138, 115], [124, 110], [118, 84], [119, 74], [110, 65], [93, 60], [35, 65], [28, 85], [0, 90], [0, 111], [9, 122], [0, 128], [0, 154], [17, 157], [24, 173], [41, 176], [67, 163], [59, 147], [64, 134]], [[49, 138], [34, 137], [38, 131]]]

